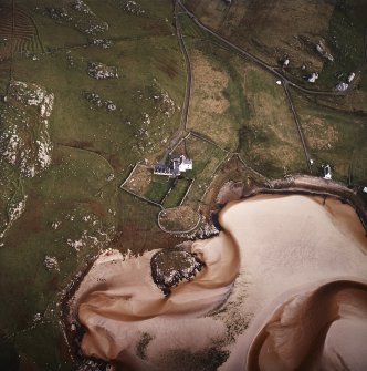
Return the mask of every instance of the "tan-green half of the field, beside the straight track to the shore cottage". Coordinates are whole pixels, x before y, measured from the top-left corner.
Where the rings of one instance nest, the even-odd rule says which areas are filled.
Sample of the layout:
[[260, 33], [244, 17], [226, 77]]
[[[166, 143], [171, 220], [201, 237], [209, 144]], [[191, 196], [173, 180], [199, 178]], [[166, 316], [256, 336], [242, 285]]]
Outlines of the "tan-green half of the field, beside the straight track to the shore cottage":
[[242, 158], [269, 177], [304, 172], [304, 154], [283, 87], [262, 70], [244, 66], [242, 71], [250, 107], [250, 120], [240, 132]]

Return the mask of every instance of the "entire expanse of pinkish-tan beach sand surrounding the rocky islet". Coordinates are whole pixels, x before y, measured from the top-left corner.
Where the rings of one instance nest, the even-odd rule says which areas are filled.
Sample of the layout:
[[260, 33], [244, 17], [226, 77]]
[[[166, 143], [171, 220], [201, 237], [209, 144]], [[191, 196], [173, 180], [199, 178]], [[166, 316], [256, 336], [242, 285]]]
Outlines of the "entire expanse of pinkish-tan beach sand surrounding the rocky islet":
[[[169, 370], [172, 352], [197, 352], [221, 341], [222, 347], [226, 348], [227, 342], [227, 349], [231, 350], [222, 370], [268, 370], [273, 358], [282, 360], [279, 370], [286, 370], [283, 355], [289, 359], [296, 354], [294, 358], [300, 360], [295, 348], [302, 348], [303, 343], [286, 351], [282, 346], [300, 331], [306, 333], [302, 340], [305, 343], [312, 338], [304, 331], [307, 321], [302, 313], [305, 309], [294, 305], [300, 298], [308, 298], [303, 299], [304, 308], [312, 308], [315, 328], [321, 323], [315, 333], [318, 340], [323, 333], [323, 341], [328, 344], [324, 347], [326, 353], [338, 347], [337, 359], [346, 367], [359, 370], [358, 364], [366, 364], [367, 355], [358, 353], [358, 347], [355, 348], [358, 354], [354, 354], [343, 341], [335, 340], [347, 328], [353, 336], [360, 328], [357, 324], [367, 317], [363, 284], [358, 284], [359, 289], [348, 287], [343, 291], [350, 300], [344, 300], [345, 296], [340, 297], [338, 291], [324, 296], [314, 293], [325, 284], [340, 279], [367, 281], [366, 233], [350, 206], [332, 198], [324, 205], [321, 197], [256, 196], [229, 204], [220, 214], [220, 223], [224, 231], [219, 237], [192, 245], [192, 251], [199, 255], [206, 268], [193, 281], [180, 284], [168, 298], [150, 277], [149, 261], [155, 251], [126, 259], [117, 253], [102, 256], [74, 300], [75, 313], [87, 329], [83, 352], [119, 360], [134, 370]], [[324, 301], [317, 305], [317, 300]], [[220, 313], [202, 317], [224, 301]], [[339, 306], [345, 313], [347, 302], [356, 308], [353, 316], [346, 315], [343, 321], [336, 319], [325, 332], [322, 307], [333, 312]], [[276, 308], [280, 309], [276, 311]], [[294, 319], [291, 324], [284, 322], [284, 313]], [[277, 323], [274, 332], [270, 331], [272, 323]], [[238, 327], [234, 343], [228, 336], [233, 324]], [[145, 334], [149, 334], [149, 341], [141, 354], [139, 344]], [[367, 332], [356, 332], [356, 338], [366, 343]], [[272, 355], [266, 355], [269, 344]], [[315, 352], [310, 349], [310, 359], [319, 357], [319, 352], [317, 357]], [[352, 353], [361, 363], [353, 363]], [[329, 355], [323, 357], [325, 360]], [[294, 363], [290, 364], [291, 370]], [[181, 363], [176, 369], [188, 368]]]

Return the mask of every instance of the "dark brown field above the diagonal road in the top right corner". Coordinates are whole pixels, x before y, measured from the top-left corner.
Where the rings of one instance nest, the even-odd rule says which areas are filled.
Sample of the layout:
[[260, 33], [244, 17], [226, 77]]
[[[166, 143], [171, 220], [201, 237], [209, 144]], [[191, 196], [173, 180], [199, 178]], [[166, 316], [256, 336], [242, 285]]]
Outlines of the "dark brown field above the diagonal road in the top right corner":
[[[337, 75], [346, 79], [363, 62], [367, 10], [360, 0], [338, 0], [335, 7], [328, 1], [316, 6], [298, 0], [239, 2], [224, 8], [219, 0], [186, 3], [206, 25], [270, 65], [280, 65], [287, 55], [287, 73], [304, 86], [311, 87], [306, 73], [318, 71], [321, 78], [313, 87], [334, 89]], [[316, 52], [321, 40], [334, 62]]]

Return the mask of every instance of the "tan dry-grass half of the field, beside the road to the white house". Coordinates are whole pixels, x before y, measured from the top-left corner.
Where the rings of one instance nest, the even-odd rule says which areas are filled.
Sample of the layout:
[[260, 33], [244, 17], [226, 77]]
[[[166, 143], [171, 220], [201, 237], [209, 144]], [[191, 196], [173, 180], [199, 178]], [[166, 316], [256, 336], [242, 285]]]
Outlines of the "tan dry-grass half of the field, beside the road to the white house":
[[[239, 145], [243, 120], [243, 92], [231, 55], [207, 42], [188, 42], [192, 65], [189, 130], [195, 130], [228, 151]], [[211, 76], [208, 82], [208, 75]]]

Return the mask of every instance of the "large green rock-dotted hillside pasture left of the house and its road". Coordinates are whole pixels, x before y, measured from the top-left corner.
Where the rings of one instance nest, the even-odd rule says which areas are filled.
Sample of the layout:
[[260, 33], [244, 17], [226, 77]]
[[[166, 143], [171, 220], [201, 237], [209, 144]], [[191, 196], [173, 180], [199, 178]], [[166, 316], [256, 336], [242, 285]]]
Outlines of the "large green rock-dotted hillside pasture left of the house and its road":
[[[55, 6], [53, 1], [42, 3]], [[155, 156], [155, 152], [161, 150], [162, 127], [166, 136], [178, 127], [179, 111], [167, 118], [151, 97], [164, 90], [177, 105], [182, 102], [185, 70], [170, 25], [171, 4], [169, 1], [158, 6], [140, 1], [146, 10], [140, 17], [116, 7], [115, 1], [103, 4], [88, 1], [88, 4], [101, 19], [108, 21], [109, 30], [101, 37], [113, 40], [111, 49], [88, 45], [90, 38], [72, 24], [57, 24], [39, 11], [33, 12], [35, 6], [42, 7], [39, 1], [22, 4], [38, 24], [48, 53], [39, 55], [36, 61], [15, 55], [14, 79], [38, 83], [55, 94], [50, 117], [54, 151], [53, 163], [46, 172], [22, 181], [28, 195], [27, 209], [7, 234], [6, 245], [0, 249], [0, 329], [6, 334], [14, 334], [8, 343], [0, 344], [1, 367], [9, 371], [14, 367], [11, 365], [13, 359], [4, 359], [12, 344], [21, 354], [20, 370], [30, 367], [32, 370], [57, 370], [59, 364], [62, 370], [71, 369], [57, 323], [57, 291], [98, 250], [99, 246], [94, 246], [92, 238], [103, 244], [101, 233], [113, 237], [111, 228], [120, 225], [139, 225], [143, 230], [157, 231], [157, 209], [138, 206], [133, 198], [120, 195], [118, 185], [129, 164], [144, 156]], [[117, 66], [119, 79], [92, 79], [87, 75], [88, 61]], [[8, 75], [1, 76], [2, 85]], [[117, 110], [107, 112], [91, 105], [83, 91], [112, 100]], [[151, 122], [145, 127], [149, 140], [138, 147], [144, 113]], [[132, 125], [127, 125], [127, 121]], [[111, 179], [111, 175], [115, 178]], [[85, 217], [93, 220], [85, 221]], [[51, 227], [53, 221], [61, 221], [57, 230]], [[76, 251], [67, 240], [80, 240], [84, 231], [91, 237], [86, 240], [87, 247]], [[139, 234], [139, 230], [135, 234], [137, 239]], [[122, 248], [130, 247], [139, 251], [139, 246], [128, 244]], [[46, 271], [45, 255], [57, 258], [60, 272]], [[46, 323], [32, 328], [38, 312]]]

